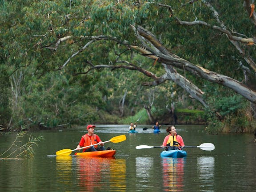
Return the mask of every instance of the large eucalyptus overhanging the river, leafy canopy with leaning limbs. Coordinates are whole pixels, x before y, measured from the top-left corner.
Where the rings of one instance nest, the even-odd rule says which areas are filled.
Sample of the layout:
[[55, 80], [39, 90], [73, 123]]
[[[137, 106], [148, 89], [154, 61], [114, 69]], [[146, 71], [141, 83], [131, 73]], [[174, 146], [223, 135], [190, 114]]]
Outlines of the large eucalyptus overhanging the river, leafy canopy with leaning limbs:
[[209, 86], [222, 85], [248, 100], [256, 118], [251, 0], [1, 3], [4, 64], [33, 65], [37, 76], [124, 68], [143, 74], [145, 86], [175, 82], [204, 107]]

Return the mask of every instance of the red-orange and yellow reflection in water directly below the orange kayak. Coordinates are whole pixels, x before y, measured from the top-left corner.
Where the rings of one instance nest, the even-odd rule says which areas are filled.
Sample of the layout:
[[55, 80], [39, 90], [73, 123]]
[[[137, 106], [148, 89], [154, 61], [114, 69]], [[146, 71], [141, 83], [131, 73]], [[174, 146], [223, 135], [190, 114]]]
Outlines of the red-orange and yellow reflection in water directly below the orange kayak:
[[[76, 157], [77, 178], [82, 191], [106, 191], [126, 189], [126, 165], [124, 159], [101, 157]], [[104, 182], [102, 182], [104, 181]], [[110, 189], [108, 189], [110, 188]]]

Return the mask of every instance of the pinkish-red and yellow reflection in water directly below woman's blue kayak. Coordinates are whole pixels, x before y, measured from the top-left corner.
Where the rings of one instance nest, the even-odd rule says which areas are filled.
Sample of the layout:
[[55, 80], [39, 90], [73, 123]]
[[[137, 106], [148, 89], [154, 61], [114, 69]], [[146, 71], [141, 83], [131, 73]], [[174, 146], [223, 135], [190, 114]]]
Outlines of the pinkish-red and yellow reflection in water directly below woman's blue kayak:
[[183, 191], [184, 164], [186, 158], [163, 158], [163, 188], [164, 191]]

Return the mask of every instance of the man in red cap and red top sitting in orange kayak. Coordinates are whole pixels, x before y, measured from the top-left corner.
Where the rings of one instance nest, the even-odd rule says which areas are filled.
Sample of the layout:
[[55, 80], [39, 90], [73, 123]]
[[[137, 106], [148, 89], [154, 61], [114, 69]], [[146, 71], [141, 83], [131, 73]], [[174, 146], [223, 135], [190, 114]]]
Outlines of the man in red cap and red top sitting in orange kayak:
[[104, 148], [104, 143], [102, 143], [102, 141], [100, 140], [100, 137], [97, 136], [96, 134], [94, 134], [94, 128], [96, 126], [89, 124], [87, 126], [87, 130], [88, 133], [83, 135], [79, 144], [76, 147], [76, 150], [80, 150], [81, 147], [86, 147], [89, 145], [93, 145], [93, 144], [99, 144], [100, 147], [98, 147], [98, 145], [94, 145], [90, 148], [84, 148], [83, 152], [91, 152], [91, 151], [103, 151], [105, 150]]

